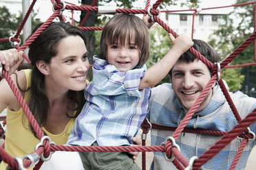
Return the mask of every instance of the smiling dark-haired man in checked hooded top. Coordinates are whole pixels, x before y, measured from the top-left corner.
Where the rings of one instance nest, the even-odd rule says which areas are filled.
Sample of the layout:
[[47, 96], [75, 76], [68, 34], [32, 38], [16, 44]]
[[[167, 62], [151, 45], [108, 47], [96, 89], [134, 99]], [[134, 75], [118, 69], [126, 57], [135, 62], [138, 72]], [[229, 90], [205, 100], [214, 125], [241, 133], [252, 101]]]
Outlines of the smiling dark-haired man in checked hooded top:
[[[210, 62], [220, 62], [220, 57], [213, 47], [202, 40], [193, 40], [193, 42], [193, 48]], [[211, 70], [203, 62], [189, 51], [186, 51], [173, 66], [169, 76], [171, 84], [162, 84], [152, 89], [151, 108], [148, 118], [151, 123], [156, 125], [178, 127], [212, 75]], [[228, 89], [227, 86], [226, 88]], [[255, 98], [248, 97], [239, 91], [229, 94], [242, 119], [256, 108]], [[198, 110], [193, 114], [186, 128], [228, 132], [236, 124], [237, 120], [220, 86], [216, 82], [198, 107]], [[255, 123], [250, 125], [250, 130], [254, 133], [256, 132]], [[173, 131], [152, 129], [151, 145], [161, 145], [172, 134]], [[175, 143], [180, 146], [181, 154], [190, 160], [193, 156], [199, 157], [202, 155], [221, 137], [182, 132], [175, 140]], [[216, 156], [206, 162], [203, 165], [204, 169], [229, 169], [241, 142], [240, 139], [235, 138]], [[246, 167], [248, 156], [254, 146], [255, 141], [246, 145], [236, 169], [244, 169]], [[172, 162], [165, 160], [161, 152], [155, 152], [151, 169], [176, 169], [176, 167]]]

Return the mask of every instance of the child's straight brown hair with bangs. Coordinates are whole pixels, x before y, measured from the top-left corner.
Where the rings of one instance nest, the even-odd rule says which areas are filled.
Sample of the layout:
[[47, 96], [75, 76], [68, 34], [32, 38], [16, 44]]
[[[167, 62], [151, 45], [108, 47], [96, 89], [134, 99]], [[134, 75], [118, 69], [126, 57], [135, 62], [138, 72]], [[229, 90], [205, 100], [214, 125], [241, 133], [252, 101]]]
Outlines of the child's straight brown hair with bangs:
[[134, 40], [138, 46], [138, 66], [145, 64], [149, 58], [149, 29], [142, 19], [134, 14], [117, 14], [107, 22], [100, 37], [100, 58], [107, 60], [107, 45], [117, 42], [125, 45], [126, 38], [129, 44]]

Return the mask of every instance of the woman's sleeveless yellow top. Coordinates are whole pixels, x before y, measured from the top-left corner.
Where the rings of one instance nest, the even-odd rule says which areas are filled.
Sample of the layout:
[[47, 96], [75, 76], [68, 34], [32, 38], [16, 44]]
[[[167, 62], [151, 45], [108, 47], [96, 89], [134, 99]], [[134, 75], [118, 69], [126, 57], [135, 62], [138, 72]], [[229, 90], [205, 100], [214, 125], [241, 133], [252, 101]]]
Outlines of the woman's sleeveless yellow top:
[[[25, 71], [27, 88], [29, 88], [31, 84], [31, 70], [26, 69], [23, 71]], [[29, 97], [30, 90], [26, 91], [25, 93], [24, 100], [26, 103]], [[23, 120], [25, 121], [25, 125], [27, 125], [27, 127], [24, 127]], [[52, 139], [54, 143], [56, 143], [56, 145], [65, 145], [68, 136], [70, 136], [72, 126], [74, 125], [74, 120], [75, 119], [70, 119], [65, 127], [65, 130], [63, 130], [61, 134], [51, 134], [50, 132], [47, 132], [44, 127], [42, 127], [42, 130]], [[34, 152], [34, 148], [40, 141], [30, 131], [28, 118], [26, 117], [22, 108], [17, 112], [7, 109], [6, 126], [6, 139], [4, 145], [8, 154], [10, 154], [12, 157], [18, 156], [19, 158], [22, 158], [23, 156]], [[7, 164], [2, 161], [0, 169], [6, 169], [6, 167]]]

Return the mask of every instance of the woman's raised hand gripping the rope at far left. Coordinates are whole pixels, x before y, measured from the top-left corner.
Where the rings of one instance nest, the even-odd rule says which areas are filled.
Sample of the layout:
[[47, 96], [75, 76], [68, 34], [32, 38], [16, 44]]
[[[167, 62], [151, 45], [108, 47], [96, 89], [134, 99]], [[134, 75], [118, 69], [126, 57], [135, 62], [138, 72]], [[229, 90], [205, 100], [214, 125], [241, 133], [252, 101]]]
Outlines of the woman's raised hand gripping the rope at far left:
[[3, 68], [12, 74], [21, 64], [23, 60], [23, 51], [17, 51], [17, 49], [7, 49], [0, 51], [0, 62]]

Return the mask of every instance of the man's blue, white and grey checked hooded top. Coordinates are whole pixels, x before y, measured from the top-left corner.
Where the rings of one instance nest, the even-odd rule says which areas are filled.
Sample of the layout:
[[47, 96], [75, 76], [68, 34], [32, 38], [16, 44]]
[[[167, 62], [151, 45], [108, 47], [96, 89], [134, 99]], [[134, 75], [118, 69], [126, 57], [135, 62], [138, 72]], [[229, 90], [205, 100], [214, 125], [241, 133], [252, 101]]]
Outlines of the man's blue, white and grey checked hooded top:
[[[231, 98], [244, 119], [256, 108], [256, 99], [248, 97], [241, 92], [230, 93]], [[151, 90], [151, 108], [148, 114], [149, 121], [157, 125], [167, 127], [178, 127], [187, 110], [185, 110], [179, 99], [175, 96], [171, 84], [162, 84]], [[237, 124], [234, 114], [228, 105], [219, 85], [213, 88], [213, 97], [204, 110], [193, 115], [186, 127], [200, 128], [203, 130], [220, 130], [227, 132]], [[256, 125], [250, 125], [250, 130], [256, 132]], [[151, 130], [151, 145], [160, 145], [173, 131]], [[180, 146], [180, 152], [188, 160], [193, 156], [200, 156], [219, 140], [221, 136], [194, 134], [182, 132], [175, 141]], [[244, 169], [250, 151], [255, 146], [255, 141], [246, 145], [236, 169]], [[209, 162], [203, 165], [204, 169], [229, 169], [241, 141], [235, 138], [229, 145], [224, 147]], [[167, 162], [161, 152], [154, 153], [154, 160], [151, 169], [176, 169], [172, 162]]]

